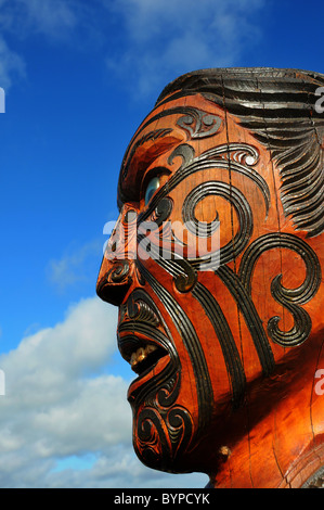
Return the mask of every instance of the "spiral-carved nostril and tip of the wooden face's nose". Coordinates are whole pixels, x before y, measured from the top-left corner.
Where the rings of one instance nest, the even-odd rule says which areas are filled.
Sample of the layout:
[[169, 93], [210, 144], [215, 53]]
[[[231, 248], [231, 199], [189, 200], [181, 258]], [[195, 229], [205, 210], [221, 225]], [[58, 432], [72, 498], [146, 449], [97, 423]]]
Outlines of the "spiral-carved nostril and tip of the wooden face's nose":
[[133, 263], [103, 259], [96, 283], [96, 294], [106, 303], [119, 306], [133, 282]]

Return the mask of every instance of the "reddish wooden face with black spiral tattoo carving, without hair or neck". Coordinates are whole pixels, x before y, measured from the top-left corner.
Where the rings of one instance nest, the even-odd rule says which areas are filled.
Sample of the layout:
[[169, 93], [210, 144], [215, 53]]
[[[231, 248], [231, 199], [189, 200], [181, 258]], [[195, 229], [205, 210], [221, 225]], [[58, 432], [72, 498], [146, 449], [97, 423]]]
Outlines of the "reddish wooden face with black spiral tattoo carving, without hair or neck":
[[196, 469], [247, 385], [321, 326], [322, 237], [296, 231], [281, 186], [268, 148], [200, 94], [157, 106], [127, 150], [98, 293], [119, 306], [152, 468]]

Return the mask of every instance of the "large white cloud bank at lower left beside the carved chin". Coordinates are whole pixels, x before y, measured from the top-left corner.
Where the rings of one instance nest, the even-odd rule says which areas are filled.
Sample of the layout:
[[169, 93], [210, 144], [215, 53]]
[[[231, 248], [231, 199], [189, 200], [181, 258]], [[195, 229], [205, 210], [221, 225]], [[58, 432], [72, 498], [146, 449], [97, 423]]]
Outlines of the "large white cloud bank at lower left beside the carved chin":
[[98, 297], [83, 299], [61, 323], [23, 339], [0, 357], [5, 372], [5, 396], [0, 396], [2, 488], [207, 483], [202, 475], [148, 470], [135, 458], [126, 399], [129, 381], [109, 368], [116, 322], [114, 307]]

